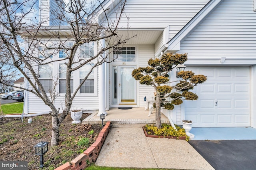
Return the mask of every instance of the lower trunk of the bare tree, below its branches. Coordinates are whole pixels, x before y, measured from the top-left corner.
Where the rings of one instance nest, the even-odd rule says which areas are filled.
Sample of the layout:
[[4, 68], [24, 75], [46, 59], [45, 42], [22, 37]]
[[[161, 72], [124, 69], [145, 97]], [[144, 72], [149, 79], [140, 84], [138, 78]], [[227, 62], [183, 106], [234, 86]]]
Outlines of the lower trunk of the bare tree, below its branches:
[[51, 146], [57, 146], [60, 140], [60, 123], [57, 116], [52, 116]]

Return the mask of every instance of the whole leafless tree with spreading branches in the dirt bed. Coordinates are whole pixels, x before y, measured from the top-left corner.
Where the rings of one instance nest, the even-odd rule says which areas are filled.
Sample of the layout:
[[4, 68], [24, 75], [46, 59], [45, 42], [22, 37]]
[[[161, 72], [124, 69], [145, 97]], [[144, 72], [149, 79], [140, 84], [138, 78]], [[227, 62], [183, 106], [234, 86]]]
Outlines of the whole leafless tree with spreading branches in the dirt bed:
[[[108, 56], [112, 49], [128, 40], [117, 34], [126, 1], [119, 6], [114, 20], [108, 19], [108, 9], [103, 9], [100, 5], [94, 10], [95, 6], [88, 4], [86, 0], [69, 0], [68, 4], [56, 0], [55, 3], [50, 17], [41, 17], [37, 22], [34, 18], [29, 18], [36, 11], [36, 1], [0, 1], [0, 37], [3, 51], [29, 83], [28, 88], [21, 89], [34, 93], [50, 107], [51, 146], [58, 145], [60, 124], [70, 112], [74, 97], [90, 73], [102, 63], [111, 62]], [[30, 8], [28, 4], [31, 5]], [[104, 15], [101, 18], [105, 18], [102, 22], [98, 22], [100, 10], [103, 10]], [[53, 26], [47, 26], [46, 23], [52, 23]], [[94, 45], [97, 45], [96, 52], [92, 49]], [[60, 108], [54, 105], [54, 100], [58, 97], [55, 87], [60, 74], [54, 75], [51, 72], [51, 64], [60, 61], [64, 63], [60, 70], [66, 81], [65, 106], [61, 113]], [[84, 66], [90, 69], [72, 93], [72, 72]], [[46, 88], [42, 84], [40, 78], [43, 76], [52, 80], [52, 87]], [[0, 79], [0, 83], [8, 85], [3, 79]]]

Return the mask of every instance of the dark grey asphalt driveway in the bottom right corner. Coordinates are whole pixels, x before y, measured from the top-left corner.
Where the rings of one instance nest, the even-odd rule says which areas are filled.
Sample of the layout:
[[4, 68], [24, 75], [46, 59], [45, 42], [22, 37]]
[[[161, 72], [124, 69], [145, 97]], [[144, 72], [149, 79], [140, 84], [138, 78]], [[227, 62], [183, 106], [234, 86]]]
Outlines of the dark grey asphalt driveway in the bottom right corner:
[[256, 140], [190, 140], [215, 170], [255, 170]]

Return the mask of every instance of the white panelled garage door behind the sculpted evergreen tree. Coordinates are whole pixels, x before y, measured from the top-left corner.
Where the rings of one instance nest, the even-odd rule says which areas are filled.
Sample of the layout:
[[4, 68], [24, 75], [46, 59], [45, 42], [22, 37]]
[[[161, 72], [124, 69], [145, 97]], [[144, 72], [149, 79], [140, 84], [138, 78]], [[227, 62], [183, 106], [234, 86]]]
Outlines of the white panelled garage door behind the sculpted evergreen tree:
[[187, 67], [207, 81], [194, 87], [197, 101], [184, 101], [185, 119], [193, 127], [250, 126], [249, 67]]

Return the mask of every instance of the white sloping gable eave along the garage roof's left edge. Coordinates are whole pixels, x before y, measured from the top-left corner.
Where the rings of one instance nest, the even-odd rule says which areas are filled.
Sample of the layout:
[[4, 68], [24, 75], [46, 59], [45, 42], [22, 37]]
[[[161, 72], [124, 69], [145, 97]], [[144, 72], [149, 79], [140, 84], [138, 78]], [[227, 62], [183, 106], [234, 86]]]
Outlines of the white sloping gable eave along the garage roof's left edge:
[[164, 53], [180, 50], [180, 42], [186, 38], [223, 0], [210, 0], [169, 42]]

